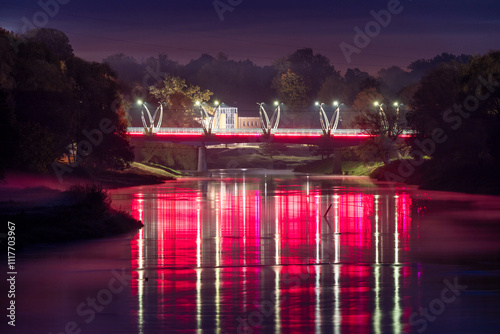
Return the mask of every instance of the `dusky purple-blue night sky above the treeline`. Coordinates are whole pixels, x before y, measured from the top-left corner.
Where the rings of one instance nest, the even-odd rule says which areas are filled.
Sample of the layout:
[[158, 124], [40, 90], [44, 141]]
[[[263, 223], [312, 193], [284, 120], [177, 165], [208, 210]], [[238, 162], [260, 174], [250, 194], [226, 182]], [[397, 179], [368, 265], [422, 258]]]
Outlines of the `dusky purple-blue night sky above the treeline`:
[[[0, 26], [21, 32], [30, 22], [62, 30], [77, 56], [95, 61], [120, 52], [138, 60], [166, 53], [184, 64], [202, 53], [223, 52], [230, 59], [270, 65], [311, 47], [338, 70], [375, 73], [442, 52], [500, 49], [498, 0], [402, 0], [399, 6], [397, 0], [59, 0], [54, 9], [55, 1], [0, 0]], [[39, 3], [48, 5], [48, 14]], [[369, 43], [356, 47], [354, 28], [365, 31], [375, 22], [371, 12], [391, 5], [397, 10], [390, 22], [372, 24]], [[350, 61], [341, 43], [356, 47]]]

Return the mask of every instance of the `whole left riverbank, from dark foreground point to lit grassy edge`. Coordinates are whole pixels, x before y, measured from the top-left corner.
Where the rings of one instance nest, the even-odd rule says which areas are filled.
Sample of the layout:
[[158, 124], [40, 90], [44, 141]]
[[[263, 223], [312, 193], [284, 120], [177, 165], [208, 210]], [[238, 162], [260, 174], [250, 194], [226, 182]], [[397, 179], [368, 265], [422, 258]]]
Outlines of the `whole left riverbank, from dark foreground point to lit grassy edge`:
[[113, 209], [105, 189], [161, 184], [179, 175], [136, 162], [123, 171], [70, 175], [60, 181], [47, 175], [8, 173], [0, 185], [0, 220], [15, 224], [18, 248], [133, 232], [142, 222]]

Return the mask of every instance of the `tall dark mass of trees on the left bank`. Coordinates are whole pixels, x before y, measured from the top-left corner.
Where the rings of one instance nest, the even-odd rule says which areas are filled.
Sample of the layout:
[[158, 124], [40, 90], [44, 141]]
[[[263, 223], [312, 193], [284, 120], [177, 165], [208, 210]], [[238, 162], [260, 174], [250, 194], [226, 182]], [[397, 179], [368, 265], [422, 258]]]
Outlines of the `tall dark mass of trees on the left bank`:
[[0, 30], [1, 170], [125, 167], [124, 116], [114, 71], [74, 56], [64, 33]]

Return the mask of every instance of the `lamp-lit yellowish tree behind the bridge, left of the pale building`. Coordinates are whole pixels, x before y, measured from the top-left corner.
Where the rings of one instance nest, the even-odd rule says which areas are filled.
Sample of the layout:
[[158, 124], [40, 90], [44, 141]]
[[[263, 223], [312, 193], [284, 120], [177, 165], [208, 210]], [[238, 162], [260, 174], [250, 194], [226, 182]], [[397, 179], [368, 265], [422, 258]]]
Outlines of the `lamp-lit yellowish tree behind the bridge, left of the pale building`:
[[166, 122], [176, 127], [197, 125], [195, 103], [206, 102], [213, 95], [211, 91], [202, 91], [199, 86], [188, 85], [186, 80], [175, 76], [166, 76], [159, 85], [151, 86], [150, 93], [167, 106]]

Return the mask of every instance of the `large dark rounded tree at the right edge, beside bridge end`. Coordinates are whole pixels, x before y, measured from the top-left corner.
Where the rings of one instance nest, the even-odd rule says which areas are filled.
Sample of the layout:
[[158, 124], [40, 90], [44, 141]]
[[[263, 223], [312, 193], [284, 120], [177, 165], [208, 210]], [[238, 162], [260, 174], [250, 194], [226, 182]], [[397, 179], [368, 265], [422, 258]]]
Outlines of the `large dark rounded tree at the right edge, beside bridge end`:
[[441, 172], [500, 159], [499, 80], [498, 51], [473, 57], [468, 64], [443, 64], [422, 78], [409, 123], [419, 142], [443, 132], [446, 140], [424, 152]]

